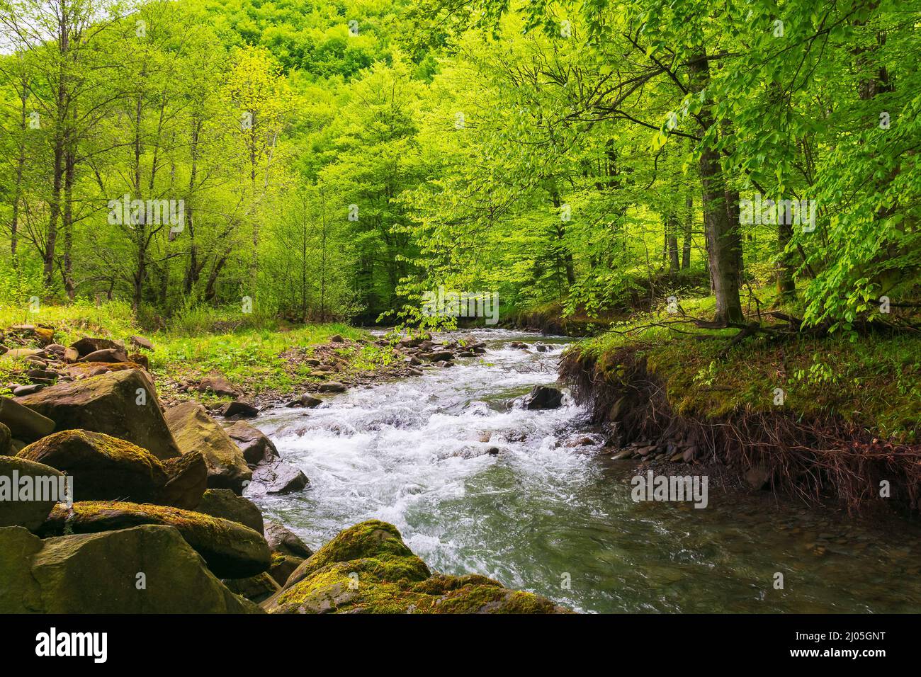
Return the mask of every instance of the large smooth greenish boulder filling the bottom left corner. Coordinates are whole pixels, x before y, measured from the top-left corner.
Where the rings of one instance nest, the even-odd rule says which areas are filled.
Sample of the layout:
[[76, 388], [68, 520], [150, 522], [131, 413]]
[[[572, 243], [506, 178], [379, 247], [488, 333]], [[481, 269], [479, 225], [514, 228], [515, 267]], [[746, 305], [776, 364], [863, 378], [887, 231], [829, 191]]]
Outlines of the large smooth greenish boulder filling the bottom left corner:
[[0, 529], [0, 613], [260, 613], [171, 527], [45, 541]]

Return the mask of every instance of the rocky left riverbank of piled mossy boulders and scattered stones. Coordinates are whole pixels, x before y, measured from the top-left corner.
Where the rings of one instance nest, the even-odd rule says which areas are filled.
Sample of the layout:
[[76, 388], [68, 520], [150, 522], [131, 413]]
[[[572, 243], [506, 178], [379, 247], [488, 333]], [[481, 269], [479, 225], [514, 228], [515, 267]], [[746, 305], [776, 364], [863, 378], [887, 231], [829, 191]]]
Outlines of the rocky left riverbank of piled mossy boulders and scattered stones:
[[[244, 496], [309, 491], [309, 478], [239, 420], [267, 402], [220, 392], [218, 376], [177, 391], [223, 403], [161, 400], [143, 337], [131, 352], [53, 335], [25, 325], [3, 339], [4, 357], [25, 363], [32, 382], [0, 398], [0, 613], [565, 612], [489, 578], [434, 573], [377, 520], [312, 553]], [[414, 339], [392, 349], [409, 372], [483, 348]], [[309, 359], [342, 373], [332, 354]], [[286, 403], [348, 387], [311, 383]]]

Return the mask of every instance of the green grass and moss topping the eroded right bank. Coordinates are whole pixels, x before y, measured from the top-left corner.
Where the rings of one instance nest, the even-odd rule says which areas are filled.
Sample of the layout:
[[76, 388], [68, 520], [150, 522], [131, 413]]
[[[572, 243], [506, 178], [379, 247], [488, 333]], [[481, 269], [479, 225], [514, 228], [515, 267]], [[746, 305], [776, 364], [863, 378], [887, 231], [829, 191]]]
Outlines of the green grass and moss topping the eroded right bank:
[[[759, 290], [764, 307], [780, 308]], [[686, 299], [681, 308], [707, 318], [713, 298]], [[791, 314], [796, 309], [784, 308]], [[723, 355], [737, 329], [691, 324], [647, 326], [667, 312], [636, 316], [578, 349], [614, 373], [619, 350], [632, 347], [662, 383], [676, 414], [717, 418], [740, 412], [784, 411], [802, 419], [841, 417], [880, 438], [915, 442], [921, 436], [921, 338], [913, 334], [833, 334], [748, 338]], [[752, 314], [750, 314], [752, 319]], [[679, 330], [681, 333], [679, 333]], [[775, 403], [783, 391], [783, 404]]]

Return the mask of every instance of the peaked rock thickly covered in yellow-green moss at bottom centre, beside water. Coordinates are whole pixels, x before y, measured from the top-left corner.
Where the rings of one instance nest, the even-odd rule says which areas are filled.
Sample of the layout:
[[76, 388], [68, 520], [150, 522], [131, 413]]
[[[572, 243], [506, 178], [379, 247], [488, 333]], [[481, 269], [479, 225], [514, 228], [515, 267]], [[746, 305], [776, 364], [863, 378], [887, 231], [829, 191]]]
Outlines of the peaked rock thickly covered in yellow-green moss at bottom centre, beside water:
[[484, 576], [433, 576], [400, 531], [377, 519], [342, 531], [262, 606], [270, 613], [566, 613]]

